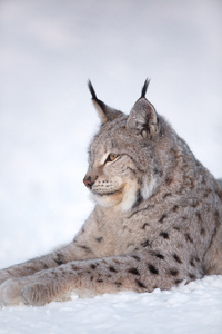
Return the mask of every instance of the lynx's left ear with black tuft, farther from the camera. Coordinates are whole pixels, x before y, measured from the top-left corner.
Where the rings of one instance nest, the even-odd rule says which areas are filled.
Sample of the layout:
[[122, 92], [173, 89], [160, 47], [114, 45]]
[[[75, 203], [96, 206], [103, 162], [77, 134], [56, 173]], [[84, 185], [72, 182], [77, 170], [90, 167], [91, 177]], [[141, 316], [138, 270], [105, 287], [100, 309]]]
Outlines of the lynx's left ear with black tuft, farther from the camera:
[[92, 95], [92, 102], [99, 114], [99, 117], [102, 120], [102, 124], [105, 124], [107, 121], [113, 120], [114, 118], [123, 115], [121, 111], [118, 111], [118, 110], [107, 106], [104, 102], [102, 102], [101, 100], [99, 100], [97, 98], [94, 88], [90, 80], [88, 81], [88, 87]]

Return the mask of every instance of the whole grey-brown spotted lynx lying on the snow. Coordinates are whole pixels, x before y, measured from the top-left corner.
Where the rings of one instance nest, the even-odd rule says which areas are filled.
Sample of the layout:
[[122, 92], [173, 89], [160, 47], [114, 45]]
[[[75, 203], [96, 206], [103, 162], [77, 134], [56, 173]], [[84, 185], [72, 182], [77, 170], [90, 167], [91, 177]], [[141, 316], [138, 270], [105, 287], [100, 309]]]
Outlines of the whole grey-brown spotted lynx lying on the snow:
[[130, 115], [97, 98], [83, 179], [95, 207], [61, 249], [0, 271], [0, 303], [170, 289], [222, 274], [222, 184], [145, 98]]

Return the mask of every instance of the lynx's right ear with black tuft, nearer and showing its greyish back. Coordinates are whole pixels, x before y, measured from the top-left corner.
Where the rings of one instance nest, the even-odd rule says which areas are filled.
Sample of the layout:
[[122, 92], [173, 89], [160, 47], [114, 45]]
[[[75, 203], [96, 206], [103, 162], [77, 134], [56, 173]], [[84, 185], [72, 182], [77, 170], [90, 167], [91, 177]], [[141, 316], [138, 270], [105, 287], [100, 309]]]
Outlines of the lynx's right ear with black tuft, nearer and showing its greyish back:
[[127, 120], [127, 128], [134, 129], [143, 138], [151, 139], [159, 132], [159, 120], [155, 108], [145, 98], [149, 82], [150, 81], [147, 79], [141, 91], [141, 97], [137, 100], [130, 111], [130, 116]]

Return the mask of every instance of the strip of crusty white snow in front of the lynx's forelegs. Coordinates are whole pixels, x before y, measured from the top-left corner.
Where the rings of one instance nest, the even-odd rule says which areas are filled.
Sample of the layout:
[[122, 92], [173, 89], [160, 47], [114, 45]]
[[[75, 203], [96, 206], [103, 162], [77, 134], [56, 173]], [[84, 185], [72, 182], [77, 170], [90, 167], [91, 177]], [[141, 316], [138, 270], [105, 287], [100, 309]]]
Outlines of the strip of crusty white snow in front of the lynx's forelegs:
[[1, 334], [221, 333], [222, 277], [152, 294], [120, 293], [43, 307], [4, 307], [0, 324]]

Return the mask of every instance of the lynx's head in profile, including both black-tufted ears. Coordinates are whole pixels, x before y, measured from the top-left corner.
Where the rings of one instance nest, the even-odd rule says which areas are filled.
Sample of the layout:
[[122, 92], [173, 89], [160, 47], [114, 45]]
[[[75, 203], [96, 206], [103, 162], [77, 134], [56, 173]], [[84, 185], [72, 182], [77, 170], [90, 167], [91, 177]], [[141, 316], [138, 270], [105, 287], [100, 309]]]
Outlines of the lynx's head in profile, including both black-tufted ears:
[[99, 205], [129, 210], [155, 191], [160, 167], [153, 153], [161, 139], [161, 125], [145, 98], [148, 85], [145, 80], [141, 97], [127, 116], [99, 100], [89, 81], [102, 124], [90, 146], [83, 183]]

